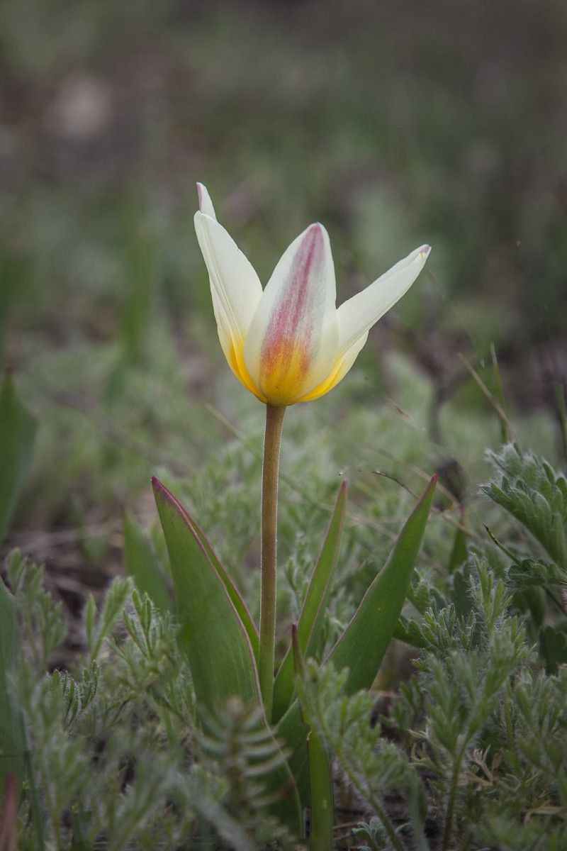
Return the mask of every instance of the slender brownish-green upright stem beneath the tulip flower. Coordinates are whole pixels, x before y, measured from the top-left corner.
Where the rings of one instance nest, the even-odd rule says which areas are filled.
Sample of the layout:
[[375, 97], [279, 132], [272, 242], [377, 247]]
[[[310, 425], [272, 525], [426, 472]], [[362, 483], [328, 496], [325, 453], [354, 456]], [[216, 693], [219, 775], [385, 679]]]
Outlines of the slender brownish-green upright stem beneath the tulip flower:
[[260, 649], [258, 676], [264, 711], [272, 715], [274, 694], [275, 586], [277, 566], [278, 469], [281, 428], [286, 407], [266, 405], [262, 467], [262, 530], [260, 539]]

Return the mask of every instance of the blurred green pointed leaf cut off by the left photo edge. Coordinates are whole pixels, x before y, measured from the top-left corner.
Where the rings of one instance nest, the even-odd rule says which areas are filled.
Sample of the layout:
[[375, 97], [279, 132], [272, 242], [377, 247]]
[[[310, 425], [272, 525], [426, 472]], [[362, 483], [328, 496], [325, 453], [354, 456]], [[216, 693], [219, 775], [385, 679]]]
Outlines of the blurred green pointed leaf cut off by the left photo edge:
[[5, 374], [0, 390], [0, 542], [31, 464], [36, 430], [37, 420], [24, 408], [11, 376]]

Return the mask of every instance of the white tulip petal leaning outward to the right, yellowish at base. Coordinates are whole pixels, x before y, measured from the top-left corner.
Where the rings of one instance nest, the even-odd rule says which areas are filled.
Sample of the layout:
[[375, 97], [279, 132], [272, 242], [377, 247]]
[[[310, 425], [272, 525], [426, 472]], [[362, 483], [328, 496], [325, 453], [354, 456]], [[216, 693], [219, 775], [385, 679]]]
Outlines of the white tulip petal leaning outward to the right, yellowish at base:
[[354, 352], [350, 365], [354, 363], [354, 358], [366, 342], [369, 329], [411, 287], [422, 271], [430, 250], [428, 245], [422, 245], [412, 251], [377, 281], [338, 308], [338, 353], [345, 362]]

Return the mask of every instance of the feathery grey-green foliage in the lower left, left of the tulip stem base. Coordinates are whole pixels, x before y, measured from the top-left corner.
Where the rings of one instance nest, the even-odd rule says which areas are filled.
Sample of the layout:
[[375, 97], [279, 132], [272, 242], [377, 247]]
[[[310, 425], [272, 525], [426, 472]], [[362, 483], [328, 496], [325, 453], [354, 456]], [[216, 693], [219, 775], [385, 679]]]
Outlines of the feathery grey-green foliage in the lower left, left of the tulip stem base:
[[[10, 574], [19, 577], [24, 642], [54, 648], [42, 571], [13, 557]], [[269, 814], [264, 782], [285, 757], [258, 707], [219, 704], [201, 730], [177, 649], [179, 626], [128, 581], [115, 581], [100, 613], [85, 620], [90, 639], [87, 665], [77, 660], [79, 676], [46, 677], [33, 651], [19, 667], [16, 694], [31, 762], [18, 847], [62, 851], [104, 842], [114, 851], [131, 844], [173, 851], [201, 848], [208, 832], [215, 848], [255, 851], [266, 837], [278, 837], [282, 851], [292, 848]], [[35, 785], [41, 813], [33, 812]]]

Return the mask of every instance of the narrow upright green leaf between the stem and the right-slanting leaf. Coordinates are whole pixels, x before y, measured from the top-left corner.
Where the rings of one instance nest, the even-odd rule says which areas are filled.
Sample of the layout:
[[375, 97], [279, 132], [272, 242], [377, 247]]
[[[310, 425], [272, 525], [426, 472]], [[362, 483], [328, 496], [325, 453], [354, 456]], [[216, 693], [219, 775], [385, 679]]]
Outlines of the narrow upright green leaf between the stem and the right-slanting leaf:
[[[344, 515], [347, 505], [347, 483], [339, 488], [337, 501], [332, 512], [331, 522], [326, 531], [326, 537], [315, 564], [315, 570], [309, 582], [309, 588], [298, 619], [298, 643], [303, 656], [311, 656], [315, 652], [322, 623], [321, 614], [326, 609], [326, 603], [331, 591], [334, 568], [337, 564], [337, 553], [341, 543]], [[277, 721], [286, 712], [293, 697], [294, 690], [292, 646], [277, 672], [274, 683], [273, 718]]]

